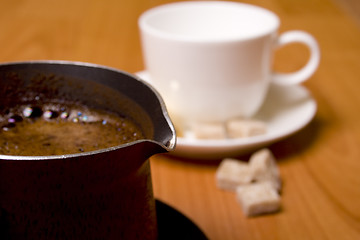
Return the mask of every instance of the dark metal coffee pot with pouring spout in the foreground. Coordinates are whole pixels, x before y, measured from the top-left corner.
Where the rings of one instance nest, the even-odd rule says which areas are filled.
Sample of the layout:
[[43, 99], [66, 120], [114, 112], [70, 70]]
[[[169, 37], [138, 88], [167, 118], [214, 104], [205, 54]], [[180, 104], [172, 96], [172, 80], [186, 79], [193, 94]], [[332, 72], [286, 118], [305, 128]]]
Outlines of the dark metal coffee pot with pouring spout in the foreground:
[[159, 94], [131, 74], [94, 64], [0, 65], [0, 112], [51, 98], [130, 116], [146, 138], [77, 154], [0, 155], [0, 239], [157, 239], [148, 158], [176, 142]]

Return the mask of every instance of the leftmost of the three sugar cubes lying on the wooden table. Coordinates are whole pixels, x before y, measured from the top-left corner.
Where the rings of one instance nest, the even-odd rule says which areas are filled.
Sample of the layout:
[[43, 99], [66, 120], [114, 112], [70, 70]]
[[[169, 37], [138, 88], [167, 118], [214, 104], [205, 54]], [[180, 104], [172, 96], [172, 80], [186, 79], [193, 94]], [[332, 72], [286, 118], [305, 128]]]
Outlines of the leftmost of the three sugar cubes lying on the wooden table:
[[249, 165], [236, 159], [224, 159], [216, 171], [217, 186], [223, 190], [235, 191], [236, 187], [251, 180]]

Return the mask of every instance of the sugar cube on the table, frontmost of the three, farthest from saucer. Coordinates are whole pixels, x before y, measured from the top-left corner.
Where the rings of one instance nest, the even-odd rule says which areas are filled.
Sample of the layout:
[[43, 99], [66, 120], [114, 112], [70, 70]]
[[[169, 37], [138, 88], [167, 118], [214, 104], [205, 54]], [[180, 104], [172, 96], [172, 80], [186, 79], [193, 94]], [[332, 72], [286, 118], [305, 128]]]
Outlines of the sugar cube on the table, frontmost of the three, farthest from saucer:
[[267, 181], [238, 186], [236, 197], [246, 216], [273, 213], [281, 206], [278, 192]]

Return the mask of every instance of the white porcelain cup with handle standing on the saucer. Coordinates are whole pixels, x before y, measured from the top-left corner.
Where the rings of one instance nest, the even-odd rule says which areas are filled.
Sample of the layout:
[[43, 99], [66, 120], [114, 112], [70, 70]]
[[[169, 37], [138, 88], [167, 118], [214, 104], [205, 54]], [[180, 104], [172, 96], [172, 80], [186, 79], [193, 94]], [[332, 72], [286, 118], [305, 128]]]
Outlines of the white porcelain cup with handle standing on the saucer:
[[[266, 9], [223, 1], [177, 2], [143, 13], [145, 67], [175, 125], [252, 117], [270, 83], [307, 80], [319, 64], [318, 44], [303, 31], [278, 35], [279, 24]], [[274, 49], [294, 42], [309, 48], [307, 64], [294, 73], [272, 72]]]

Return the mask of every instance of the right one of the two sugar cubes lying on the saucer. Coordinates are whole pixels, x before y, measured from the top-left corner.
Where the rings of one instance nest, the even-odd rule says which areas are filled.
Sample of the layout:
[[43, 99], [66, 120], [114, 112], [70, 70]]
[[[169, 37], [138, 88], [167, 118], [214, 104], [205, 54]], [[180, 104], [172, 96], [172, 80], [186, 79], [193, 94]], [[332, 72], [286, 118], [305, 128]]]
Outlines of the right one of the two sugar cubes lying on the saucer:
[[229, 138], [243, 138], [266, 133], [266, 124], [254, 119], [232, 119], [227, 122]]

